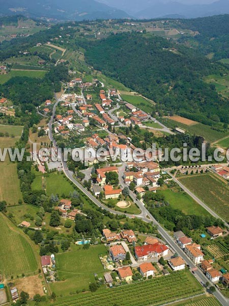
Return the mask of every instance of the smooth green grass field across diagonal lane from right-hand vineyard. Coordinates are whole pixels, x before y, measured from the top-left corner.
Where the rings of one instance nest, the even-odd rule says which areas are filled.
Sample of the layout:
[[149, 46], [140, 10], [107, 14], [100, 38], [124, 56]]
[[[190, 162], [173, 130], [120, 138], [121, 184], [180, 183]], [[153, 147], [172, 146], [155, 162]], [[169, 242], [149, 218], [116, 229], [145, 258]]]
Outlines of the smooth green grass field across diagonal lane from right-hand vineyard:
[[187, 215], [210, 215], [201, 205], [199, 205], [192, 197], [183, 192], [175, 192], [171, 189], [160, 190], [158, 193], [165, 196], [171, 207], [180, 209]]

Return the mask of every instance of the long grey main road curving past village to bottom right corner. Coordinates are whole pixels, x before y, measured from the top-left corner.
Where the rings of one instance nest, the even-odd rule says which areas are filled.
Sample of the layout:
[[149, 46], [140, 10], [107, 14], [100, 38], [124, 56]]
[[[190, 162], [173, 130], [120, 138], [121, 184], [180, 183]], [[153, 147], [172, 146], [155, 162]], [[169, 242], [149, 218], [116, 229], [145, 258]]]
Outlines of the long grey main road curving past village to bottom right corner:
[[[52, 135], [52, 123], [54, 120], [54, 116], [55, 116], [55, 110], [56, 110], [56, 106], [58, 105], [59, 101], [61, 99], [58, 99], [55, 96], [56, 99], [56, 103], [53, 106], [53, 110], [52, 110], [52, 115], [50, 118], [50, 121], [48, 123], [48, 127], [49, 127], [49, 138], [50, 141], [52, 141], [53, 146], [58, 149], [56, 142], [53, 138]], [[78, 113], [78, 112], [77, 112]], [[73, 172], [70, 171], [68, 169], [67, 163], [63, 160], [63, 156], [62, 154], [59, 153], [59, 158], [62, 162], [62, 166], [63, 166], [63, 171], [65, 173], [65, 175], [68, 177], [68, 179], [73, 182], [76, 187], [81, 190], [85, 195], [87, 195], [90, 200], [92, 202], [94, 202], [98, 207], [101, 207], [104, 210], [109, 211], [112, 214], [116, 214], [116, 215], [125, 215], [129, 218], [141, 218], [143, 221], [145, 222], [152, 222], [154, 225], [157, 226], [158, 228], [158, 233], [163, 237], [163, 239], [167, 242], [167, 244], [170, 246], [171, 249], [173, 249], [175, 252], [178, 253], [179, 256], [181, 256], [187, 265], [189, 265], [190, 269], [196, 269], [196, 266], [194, 265], [194, 263], [189, 259], [189, 257], [186, 255], [186, 253], [179, 247], [179, 245], [175, 242], [175, 240], [167, 233], [167, 231], [164, 229], [164, 227], [150, 214], [150, 212], [146, 209], [146, 207], [144, 206], [144, 203], [138, 199], [136, 199], [136, 196], [131, 193], [131, 196], [134, 198], [136, 204], [138, 205], [139, 209], [141, 210], [141, 213], [139, 215], [130, 215], [130, 214], [124, 214], [121, 212], [117, 212], [114, 211], [112, 209], [109, 209], [108, 207], [106, 207], [105, 205], [103, 205], [97, 198], [95, 198], [90, 191], [88, 191], [87, 189], [85, 189], [74, 177], [73, 177]], [[124, 167], [124, 166], [123, 166]], [[121, 171], [120, 171], [121, 172]], [[174, 179], [174, 176], [172, 177]], [[121, 178], [121, 174], [120, 174], [120, 179], [121, 179], [121, 185], [124, 187], [124, 182]], [[181, 186], [183, 188], [183, 185]], [[188, 192], [188, 191], [186, 191]], [[211, 213], [211, 212], [210, 212]], [[209, 279], [205, 276], [205, 274], [201, 271], [201, 269], [199, 269], [197, 267], [197, 269], [195, 270], [195, 277], [198, 280], [198, 282], [205, 284], [206, 282], [209, 282]], [[188, 288], [187, 288], [188, 291]], [[228, 306], [229, 304], [229, 299], [225, 298], [218, 289], [216, 289], [216, 291], [214, 292], [215, 297], [219, 300], [219, 302], [223, 305], [223, 306]]]

